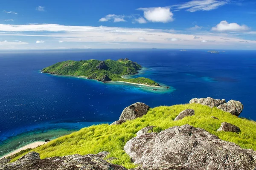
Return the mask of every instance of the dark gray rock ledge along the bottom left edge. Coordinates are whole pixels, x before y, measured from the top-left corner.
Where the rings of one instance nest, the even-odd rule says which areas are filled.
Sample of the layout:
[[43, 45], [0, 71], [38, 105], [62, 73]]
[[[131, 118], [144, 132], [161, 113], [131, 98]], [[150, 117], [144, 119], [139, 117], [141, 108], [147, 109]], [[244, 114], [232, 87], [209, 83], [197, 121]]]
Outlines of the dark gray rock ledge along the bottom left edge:
[[79, 154], [40, 159], [35, 152], [27, 153], [17, 161], [0, 165], [0, 170], [127, 170], [120, 165], [108, 163], [99, 155]]

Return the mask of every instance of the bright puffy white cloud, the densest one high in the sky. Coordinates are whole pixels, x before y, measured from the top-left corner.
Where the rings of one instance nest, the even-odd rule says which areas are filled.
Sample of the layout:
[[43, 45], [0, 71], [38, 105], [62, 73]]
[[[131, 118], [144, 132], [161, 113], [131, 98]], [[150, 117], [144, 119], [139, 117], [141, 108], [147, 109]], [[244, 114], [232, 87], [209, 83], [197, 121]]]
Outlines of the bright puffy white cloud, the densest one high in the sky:
[[144, 11], [144, 17], [151, 22], [168, 23], [172, 22], [173, 13], [169, 7], [138, 8]]

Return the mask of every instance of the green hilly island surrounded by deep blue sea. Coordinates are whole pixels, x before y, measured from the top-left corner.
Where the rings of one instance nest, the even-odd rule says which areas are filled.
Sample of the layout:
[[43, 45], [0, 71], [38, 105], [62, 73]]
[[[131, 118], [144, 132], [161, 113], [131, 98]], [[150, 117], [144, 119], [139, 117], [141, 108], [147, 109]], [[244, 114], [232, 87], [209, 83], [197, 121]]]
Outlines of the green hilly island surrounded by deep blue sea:
[[160, 86], [157, 82], [138, 77], [134, 79], [123, 79], [122, 75], [138, 74], [138, 70], [142, 68], [137, 62], [133, 62], [128, 58], [118, 59], [117, 61], [107, 59], [100, 61], [96, 59], [81, 60], [81, 61], [64, 61], [58, 62], [47, 68], [42, 69], [43, 73], [83, 76], [87, 79], [96, 79], [102, 82], [122, 81], [131, 82], [150, 86]]

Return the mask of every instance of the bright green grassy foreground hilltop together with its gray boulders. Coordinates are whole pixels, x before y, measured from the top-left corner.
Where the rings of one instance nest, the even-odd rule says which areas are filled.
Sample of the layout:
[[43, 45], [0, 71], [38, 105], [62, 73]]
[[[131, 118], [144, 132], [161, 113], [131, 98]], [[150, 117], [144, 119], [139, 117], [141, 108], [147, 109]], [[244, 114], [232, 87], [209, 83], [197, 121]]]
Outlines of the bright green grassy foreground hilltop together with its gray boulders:
[[[29, 151], [35, 151], [32, 154], [35, 157], [40, 154], [43, 160], [58, 156], [45, 159], [46, 162], [69, 159], [81, 160], [74, 164], [83, 164], [82, 160], [86, 159], [90, 160], [90, 166], [105, 164], [114, 167], [118, 164], [128, 169], [142, 166], [137, 170], [146, 170], [147, 166], [161, 166], [166, 170], [169, 166], [175, 170], [194, 170], [204, 166], [251, 169], [256, 166], [256, 152], [253, 151], [256, 150], [256, 122], [237, 117], [242, 108], [239, 101], [212, 98], [192, 99], [190, 104], [156, 108], [135, 103], [125, 108], [119, 120], [111, 125], [85, 127], [10, 158], [15, 161]], [[223, 111], [225, 109], [228, 112]], [[98, 158], [102, 152], [104, 156], [100, 158], [104, 160], [100, 163]], [[84, 157], [67, 156], [72, 154]], [[44, 163], [43, 160], [38, 163]]]

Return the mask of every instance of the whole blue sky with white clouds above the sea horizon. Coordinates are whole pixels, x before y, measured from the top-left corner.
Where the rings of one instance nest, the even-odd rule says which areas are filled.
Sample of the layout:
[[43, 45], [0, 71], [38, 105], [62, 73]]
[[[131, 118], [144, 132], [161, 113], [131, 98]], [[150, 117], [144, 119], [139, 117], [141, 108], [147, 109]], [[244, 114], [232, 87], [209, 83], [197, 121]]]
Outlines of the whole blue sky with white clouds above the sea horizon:
[[256, 1], [0, 1], [0, 50], [153, 47], [256, 49]]

